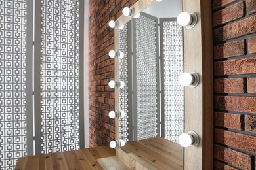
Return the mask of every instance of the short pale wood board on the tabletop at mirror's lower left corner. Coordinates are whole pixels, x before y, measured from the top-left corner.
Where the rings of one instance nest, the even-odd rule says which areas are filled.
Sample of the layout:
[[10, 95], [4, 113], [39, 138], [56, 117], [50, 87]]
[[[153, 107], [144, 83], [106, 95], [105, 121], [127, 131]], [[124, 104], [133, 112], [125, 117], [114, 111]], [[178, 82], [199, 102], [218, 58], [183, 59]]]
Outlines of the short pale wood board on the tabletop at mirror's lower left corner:
[[122, 161], [117, 160], [116, 156], [108, 157], [108, 158], [100, 158], [97, 160], [100, 164], [100, 167], [104, 170], [109, 169], [123, 169], [130, 170]]

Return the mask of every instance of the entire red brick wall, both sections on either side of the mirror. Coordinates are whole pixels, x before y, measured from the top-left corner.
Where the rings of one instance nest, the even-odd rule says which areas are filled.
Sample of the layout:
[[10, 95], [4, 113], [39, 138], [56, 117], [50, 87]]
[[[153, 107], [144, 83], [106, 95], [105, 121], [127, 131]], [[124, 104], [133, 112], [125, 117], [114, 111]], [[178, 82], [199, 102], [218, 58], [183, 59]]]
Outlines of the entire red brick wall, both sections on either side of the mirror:
[[[114, 31], [110, 20], [137, 0], [89, 0], [90, 146], [115, 137]], [[215, 169], [255, 169], [256, 0], [212, 0], [215, 67]]]

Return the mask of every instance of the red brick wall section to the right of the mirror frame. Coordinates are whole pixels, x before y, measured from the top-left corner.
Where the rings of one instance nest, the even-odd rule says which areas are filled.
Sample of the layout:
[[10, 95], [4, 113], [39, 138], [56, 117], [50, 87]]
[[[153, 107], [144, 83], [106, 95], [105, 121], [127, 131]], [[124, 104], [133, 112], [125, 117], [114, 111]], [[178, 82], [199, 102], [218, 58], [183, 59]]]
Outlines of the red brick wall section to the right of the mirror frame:
[[213, 0], [215, 169], [255, 169], [256, 0]]

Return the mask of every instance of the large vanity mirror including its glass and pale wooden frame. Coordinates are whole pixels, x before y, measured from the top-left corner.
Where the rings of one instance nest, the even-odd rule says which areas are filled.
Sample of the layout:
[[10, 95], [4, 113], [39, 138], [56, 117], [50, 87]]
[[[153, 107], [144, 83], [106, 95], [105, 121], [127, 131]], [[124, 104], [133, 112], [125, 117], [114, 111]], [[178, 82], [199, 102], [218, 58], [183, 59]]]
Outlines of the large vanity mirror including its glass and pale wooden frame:
[[[112, 22], [115, 50], [124, 54], [115, 59], [113, 84], [117, 158], [132, 169], [140, 158], [145, 158], [140, 161], [143, 165], [145, 161], [158, 168], [168, 164], [161, 169], [174, 164], [173, 169], [212, 169], [211, 1], [138, 0], [131, 8], [131, 18], [122, 15]], [[196, 25], [177, 24], [182, 10], [190, 19], [197, 16], [192, 20]], [[196, 88], [179, 84], [183, 71], [197, 73]], [[124, 118], [119, 111], [125, 112]], [[183, 149], [177, 144], [181, 133], [194, 145]], [[127, 142], [123, 147], [121, 140]]]

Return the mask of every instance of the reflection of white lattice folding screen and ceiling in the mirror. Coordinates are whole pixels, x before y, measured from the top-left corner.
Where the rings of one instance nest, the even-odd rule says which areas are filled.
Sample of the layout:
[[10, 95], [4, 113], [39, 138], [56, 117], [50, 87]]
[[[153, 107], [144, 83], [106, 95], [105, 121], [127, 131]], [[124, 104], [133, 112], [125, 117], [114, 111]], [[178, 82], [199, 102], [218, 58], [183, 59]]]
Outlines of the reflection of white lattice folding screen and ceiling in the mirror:
[[155, 2], [119, 28], [120, 139], [164, 137], [175, 143], [184, 132], [182, 1]]

